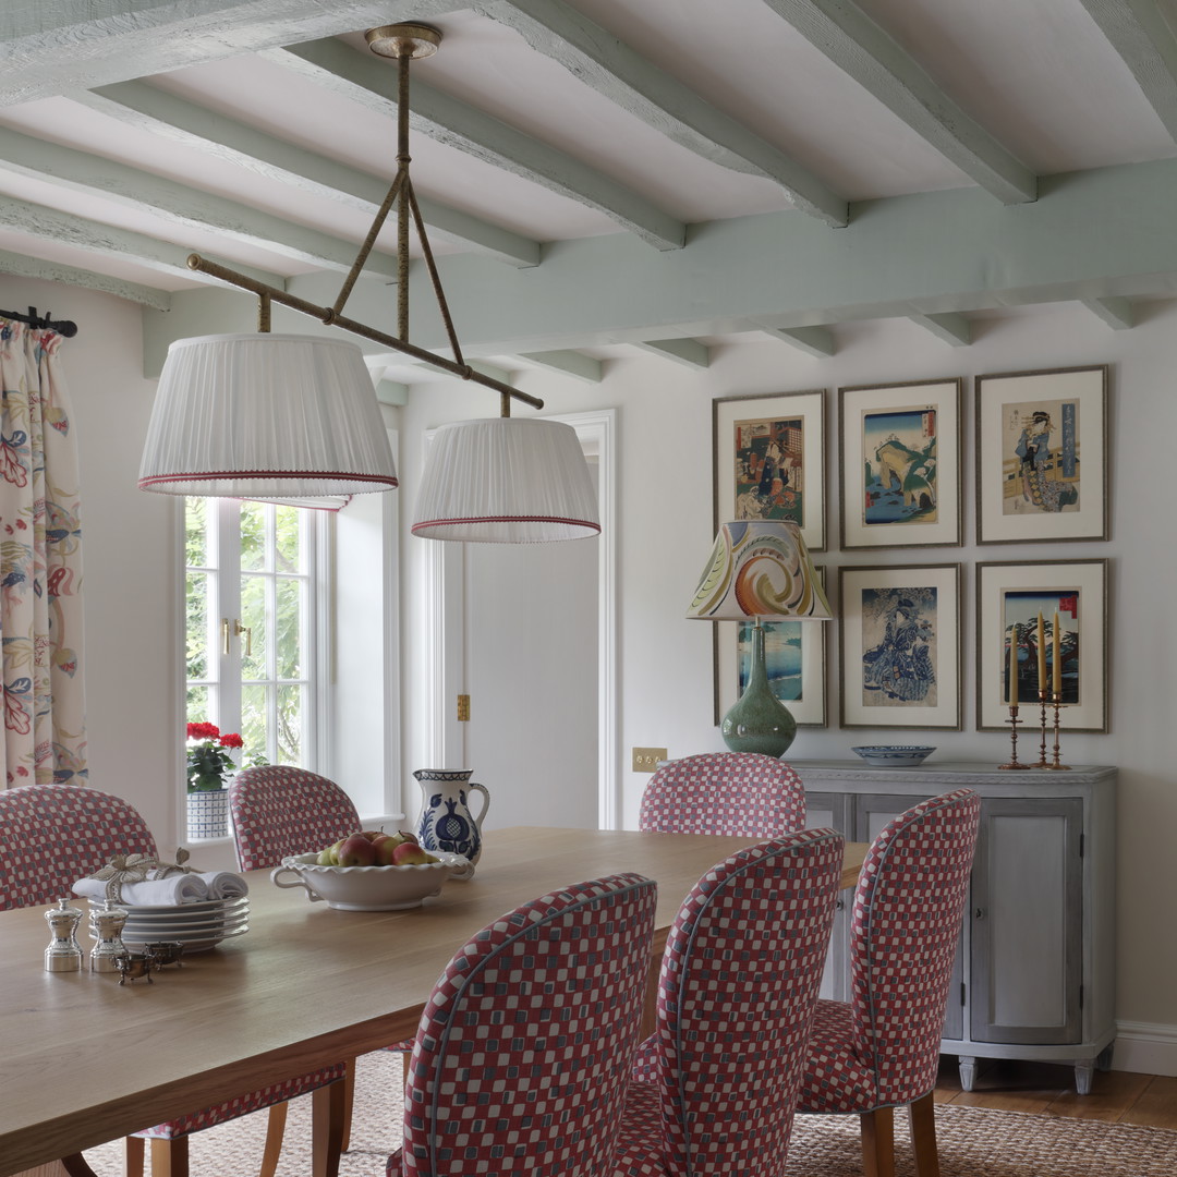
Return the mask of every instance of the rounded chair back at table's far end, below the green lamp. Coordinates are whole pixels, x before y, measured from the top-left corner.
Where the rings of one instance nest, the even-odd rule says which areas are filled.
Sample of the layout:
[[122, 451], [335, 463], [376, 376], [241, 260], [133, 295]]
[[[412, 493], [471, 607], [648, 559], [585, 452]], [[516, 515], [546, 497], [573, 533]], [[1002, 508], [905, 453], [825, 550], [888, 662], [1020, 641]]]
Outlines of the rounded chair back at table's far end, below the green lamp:
[[639, 830], [776, 838], [805, 827], [805, 787], [760, 752], [704, 752], [663, 765], [646, 785]]

